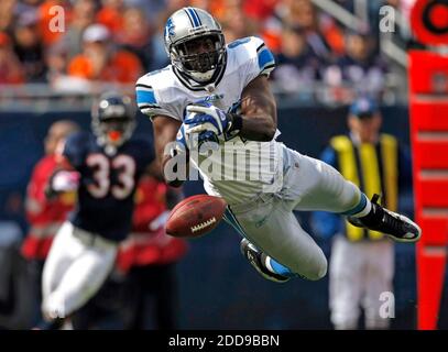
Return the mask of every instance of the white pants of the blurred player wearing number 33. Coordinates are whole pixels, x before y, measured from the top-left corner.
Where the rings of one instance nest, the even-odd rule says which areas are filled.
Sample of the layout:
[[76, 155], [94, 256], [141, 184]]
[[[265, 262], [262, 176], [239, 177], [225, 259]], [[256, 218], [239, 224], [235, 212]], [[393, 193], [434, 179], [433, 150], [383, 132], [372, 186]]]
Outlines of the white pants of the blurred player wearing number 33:
[[117, 244], [66, 221], [57, 232], [42, 274], [42, 311], [65, 318], [84, 306], [112, 271]]

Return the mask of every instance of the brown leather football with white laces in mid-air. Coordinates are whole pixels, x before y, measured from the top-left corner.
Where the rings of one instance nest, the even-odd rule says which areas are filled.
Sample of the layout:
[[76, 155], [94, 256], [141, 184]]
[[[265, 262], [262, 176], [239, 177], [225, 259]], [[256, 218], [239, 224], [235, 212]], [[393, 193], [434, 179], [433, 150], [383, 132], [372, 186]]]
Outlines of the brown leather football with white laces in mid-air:
[[198, 238], [215, 229], [226, 211], [222, 198], [196, 195], [181, 201], [171, 211], [166, 233], [176, 238]]

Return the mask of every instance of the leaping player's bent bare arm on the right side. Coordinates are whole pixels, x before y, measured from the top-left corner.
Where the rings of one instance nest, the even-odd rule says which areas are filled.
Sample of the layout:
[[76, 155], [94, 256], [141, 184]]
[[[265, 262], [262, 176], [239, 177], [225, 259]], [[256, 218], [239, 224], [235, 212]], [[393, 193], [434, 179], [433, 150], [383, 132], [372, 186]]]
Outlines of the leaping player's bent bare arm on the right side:
[[241, 95], [242, 127], [240, 135], [250, 141], [269, 142], [277, 129], [274, 95], [266, 76], [259, 76], [245, 86]]

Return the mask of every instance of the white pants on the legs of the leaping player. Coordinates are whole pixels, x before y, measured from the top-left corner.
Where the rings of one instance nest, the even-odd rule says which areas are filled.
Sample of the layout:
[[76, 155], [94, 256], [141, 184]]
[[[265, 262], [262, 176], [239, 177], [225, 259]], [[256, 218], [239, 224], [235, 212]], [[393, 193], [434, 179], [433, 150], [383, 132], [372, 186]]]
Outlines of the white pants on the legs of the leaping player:
[[361, 191], [332, 166], [284, 150], [283, 187], [253, 201], [231, 206], [240, 232], [255, 246], [308, 279], [327, 273], [324, 252], [298, 223], [293, 210], [345, 212], [353, 209]]

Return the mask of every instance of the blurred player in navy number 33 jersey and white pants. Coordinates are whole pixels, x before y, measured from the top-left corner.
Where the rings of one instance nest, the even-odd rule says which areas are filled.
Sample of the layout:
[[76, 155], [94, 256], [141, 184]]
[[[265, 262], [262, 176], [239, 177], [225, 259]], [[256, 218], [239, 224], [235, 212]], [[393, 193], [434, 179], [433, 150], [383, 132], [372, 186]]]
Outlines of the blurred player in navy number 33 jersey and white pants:
[[77, 190], [75, 211], [56, 234], [44, 266], [42, 311], [62, 319], [92, 297], [113, 267], [117, 248], [131, 230], [139, 178], [154, 160], [149, 142], [130, 140], [131, 99], [106, 94], [92, 108], [92, 132], [67, 139], [64, 163], [47, 195]]

